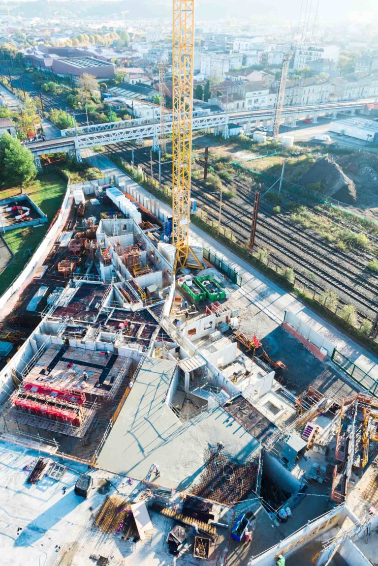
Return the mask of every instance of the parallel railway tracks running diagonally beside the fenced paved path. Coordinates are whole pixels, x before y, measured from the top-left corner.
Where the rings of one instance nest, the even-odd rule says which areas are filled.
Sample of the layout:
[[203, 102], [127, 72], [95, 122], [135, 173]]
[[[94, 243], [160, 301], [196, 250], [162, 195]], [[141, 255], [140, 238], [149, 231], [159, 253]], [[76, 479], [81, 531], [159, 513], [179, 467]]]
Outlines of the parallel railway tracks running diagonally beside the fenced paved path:
[[[113, 144], [108, 147], [111, 153], [117, 153], [131, 160], [131, 149], [128, 143]], [[150, 174], [150, 148], [134, 151], [134, 164], [141, 165]], [[154, 162], [156, 167], [156, 162]], [[162, 182], [170, 183], [171, 165], [162, 163]], [[230, 183], [232, 186], [232, 182]], [[250, 215], [253, 203], [252, 195], [244, 187], [239, 186], [237, 194], [243, 200], [244, 207], [232, 201], [224, 200], [222, 205], [222, 225], [230, 226], [237, 237], [245, 242], [249, 239]], [[210, 218], [218, 221], [219, 195], [206, 193], [201, 182], [193, 179], [193, 196], [205, 209]], [[316, 290], [334, 289], [341, 295], [341, 303], [352, 302], [360, 316], [373, 319], [378, 311], [378, 278], [371, 276], [367, 280], [363, 272], [366, 266], [359, 259], [351, 260], [347, 254], [335, 250], [315, 235], [309, 235], [305, 230], [290, 226], [277, 217], [270, 217], [269, 207], [261, 205], [262, 214], [258, 218], [256, 240], [258, 245], [269, 245], [274, 252], [274, 258], [284, 267], [294, 268], [296, 277], [303, 284]], [[272, 255], [272, 254], [271, 254]], [[334, 260], [329, 258], [333, 257]], [[314, 273], [321, 284], [307, 277], [301, 270]]]

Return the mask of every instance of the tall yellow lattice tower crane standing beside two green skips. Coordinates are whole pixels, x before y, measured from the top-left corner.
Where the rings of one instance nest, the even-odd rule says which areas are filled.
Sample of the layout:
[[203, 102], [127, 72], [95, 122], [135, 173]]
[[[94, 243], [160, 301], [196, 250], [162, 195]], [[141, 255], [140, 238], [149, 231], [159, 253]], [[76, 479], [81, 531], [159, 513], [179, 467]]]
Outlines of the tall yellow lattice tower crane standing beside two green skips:
[[175, 272], [202, 267], [189, 246], [192, 162], [194, 0], [173, 0], [172, 29], [172, 243]]

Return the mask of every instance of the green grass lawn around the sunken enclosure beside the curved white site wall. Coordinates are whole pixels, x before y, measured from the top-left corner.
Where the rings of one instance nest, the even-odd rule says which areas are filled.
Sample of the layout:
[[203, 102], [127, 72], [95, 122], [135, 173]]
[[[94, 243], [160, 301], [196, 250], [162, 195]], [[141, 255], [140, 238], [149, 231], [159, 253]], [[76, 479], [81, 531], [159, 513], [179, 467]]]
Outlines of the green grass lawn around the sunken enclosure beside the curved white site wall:
[[[0, 295], [9, 287], [11, 282], [22, 272], [50, 226], [65, 195], [67, 183], [56, 173], [44, 173], [24, 187], [24, 194], [28, 194], [33, 202], [47, 215], [48, 222], [39, 227], [26, 226], [17, 230], [10, 230], [4, 236], [7, 245], [14, 254], [10, 264], [0, 275]], [[20, 194], [19, 187], [0, 191], [0, 199]]]

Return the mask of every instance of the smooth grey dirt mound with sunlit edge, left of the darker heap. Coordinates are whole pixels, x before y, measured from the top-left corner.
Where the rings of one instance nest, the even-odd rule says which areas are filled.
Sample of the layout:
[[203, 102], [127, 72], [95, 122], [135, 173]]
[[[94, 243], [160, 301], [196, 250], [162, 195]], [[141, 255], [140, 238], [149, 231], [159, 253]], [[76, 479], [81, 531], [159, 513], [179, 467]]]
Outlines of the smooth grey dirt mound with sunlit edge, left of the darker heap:
[[320, 192], [348, 204], [354, 204], [357, 200], [354, 182], [330, 156], [316, 161], [299, 179], [299, 183], [306, 187], [320, 183]]

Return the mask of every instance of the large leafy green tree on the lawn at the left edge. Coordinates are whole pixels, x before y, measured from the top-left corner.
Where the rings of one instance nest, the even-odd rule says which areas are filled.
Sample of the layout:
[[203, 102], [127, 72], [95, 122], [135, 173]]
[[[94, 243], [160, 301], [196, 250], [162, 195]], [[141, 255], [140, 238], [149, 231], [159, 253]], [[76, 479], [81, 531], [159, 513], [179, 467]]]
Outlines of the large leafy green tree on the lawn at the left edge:
[[2, 171], [2, 184], [18, 185], [20, 192], [24, 183], [37, 174], [31, 151], [10, 134], [3, 134], [0, 137], [0, 171]]

